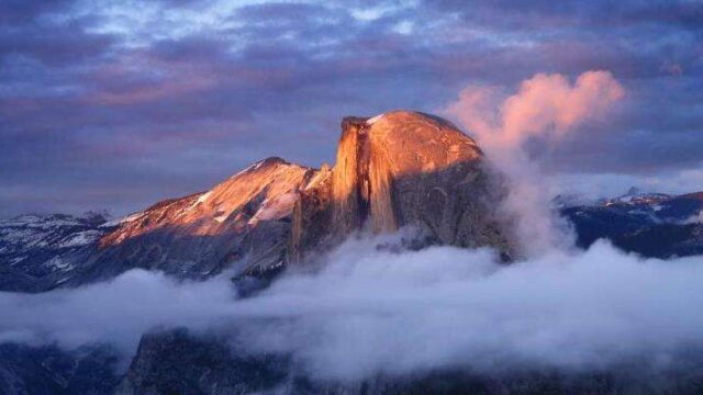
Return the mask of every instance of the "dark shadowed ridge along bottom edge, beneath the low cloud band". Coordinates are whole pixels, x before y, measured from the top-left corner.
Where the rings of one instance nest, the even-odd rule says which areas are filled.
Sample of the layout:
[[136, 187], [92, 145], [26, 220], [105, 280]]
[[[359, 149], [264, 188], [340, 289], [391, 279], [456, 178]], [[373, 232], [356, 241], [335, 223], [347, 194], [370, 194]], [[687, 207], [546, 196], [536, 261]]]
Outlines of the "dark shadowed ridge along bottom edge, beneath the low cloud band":
[[459, 368], [364, 382], [315, 380], [287, 356], [237, 354], [227, 341], [177, 329], [142, 338], [140, 349], [115, 394], [700, 394], [703, 364], [685, 371], [657, 370], [641, 361], [621, 370], [560, 372], [522, 369], [478, 373]]

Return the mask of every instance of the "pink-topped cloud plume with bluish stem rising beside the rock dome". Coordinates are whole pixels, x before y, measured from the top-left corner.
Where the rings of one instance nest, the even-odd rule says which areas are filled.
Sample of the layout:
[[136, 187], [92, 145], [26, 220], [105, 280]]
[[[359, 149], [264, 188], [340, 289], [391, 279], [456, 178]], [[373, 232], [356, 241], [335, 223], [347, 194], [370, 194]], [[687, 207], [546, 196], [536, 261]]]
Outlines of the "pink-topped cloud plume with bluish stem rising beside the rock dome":
[[525, 143], [535, 137], [557, 142], [579, 125], [602, 119], [625, 90], [609, 71], [587, 71], [573, 84], [562, 75], [538, 74], [523, 81], [516, 93], [505, 98], [501, 92], [495, 87], [468, 87], [445, 113], [476, 137], [507, 177], [510, 192], [502, 212], [514, 222], [523, 253], [569, 248], [572, 240], [565, 238], [563, 224], [545, 204], [554, 185], [525, 153]]

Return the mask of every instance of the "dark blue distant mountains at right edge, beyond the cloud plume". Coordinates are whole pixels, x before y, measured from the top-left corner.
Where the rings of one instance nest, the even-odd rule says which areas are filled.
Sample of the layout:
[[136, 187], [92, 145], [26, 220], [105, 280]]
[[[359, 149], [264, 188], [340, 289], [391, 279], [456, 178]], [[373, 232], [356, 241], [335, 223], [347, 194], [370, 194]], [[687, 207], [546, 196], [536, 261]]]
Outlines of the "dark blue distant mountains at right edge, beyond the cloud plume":
[[645, 257], [703, 253], [703, 192], [667, 195], [631, 189], [599, 203], [561, 204], [560, 211], [582, 248], [605, 238]]

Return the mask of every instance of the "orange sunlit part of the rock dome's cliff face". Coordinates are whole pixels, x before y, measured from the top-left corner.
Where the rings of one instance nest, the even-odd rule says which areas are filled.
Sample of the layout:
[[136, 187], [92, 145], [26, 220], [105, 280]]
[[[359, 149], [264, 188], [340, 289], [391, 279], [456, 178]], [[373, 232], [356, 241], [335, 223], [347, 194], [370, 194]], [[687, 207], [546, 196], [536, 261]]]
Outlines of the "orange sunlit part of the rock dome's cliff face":
[[[346, 119], [334, 168], [335, 223], [345, 216], [367, 219], [379, 232], [398, 230], [393, 208], [393, 182], [432, 177], [460, 166], [470, 182], [482, 159], [471, 138], [448, 122], [409, 112], [391, 112], [373, 119]], [[447, 192], [435, 187], [437, 199]], [[349, 214], [352, 213], [352, 214]], [[346, 226], [346, 225], [343, 225]], [[348, 229], [346, 229], [348, 232]]]

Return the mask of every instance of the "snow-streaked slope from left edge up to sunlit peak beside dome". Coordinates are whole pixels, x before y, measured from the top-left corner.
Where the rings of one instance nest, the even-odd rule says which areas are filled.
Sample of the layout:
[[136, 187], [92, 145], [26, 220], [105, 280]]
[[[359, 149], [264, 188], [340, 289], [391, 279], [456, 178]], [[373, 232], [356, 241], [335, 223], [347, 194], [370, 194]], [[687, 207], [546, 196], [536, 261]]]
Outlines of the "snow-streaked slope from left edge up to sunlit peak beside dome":
[[158, 270], [202, 279], [277, 268], [300, 189], [316, 170], [268, 158], [212, 190], [125, 218], [22, 216], [0, 223], [0, 291], [41, 292]]

